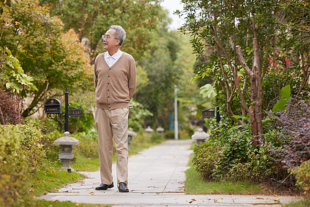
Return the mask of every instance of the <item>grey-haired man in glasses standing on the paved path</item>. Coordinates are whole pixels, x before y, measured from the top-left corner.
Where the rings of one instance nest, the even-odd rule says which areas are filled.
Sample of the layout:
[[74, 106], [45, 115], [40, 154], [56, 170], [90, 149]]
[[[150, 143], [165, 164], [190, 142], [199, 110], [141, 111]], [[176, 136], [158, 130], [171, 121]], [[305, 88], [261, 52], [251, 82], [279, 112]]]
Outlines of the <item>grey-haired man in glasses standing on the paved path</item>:
[[113, 188], [113, 137], [116, 148], [116, 175], [119, 192], [129, 192], [128, 184], [128, 107], [136, 89], [134, 58], [119, 50], [126, 32], [121, 26], [111, 26], [103, 35], [106, 52], [94, 63], [96, 97], [95, 122], [99, 135], [101, 185], [96, 190]]

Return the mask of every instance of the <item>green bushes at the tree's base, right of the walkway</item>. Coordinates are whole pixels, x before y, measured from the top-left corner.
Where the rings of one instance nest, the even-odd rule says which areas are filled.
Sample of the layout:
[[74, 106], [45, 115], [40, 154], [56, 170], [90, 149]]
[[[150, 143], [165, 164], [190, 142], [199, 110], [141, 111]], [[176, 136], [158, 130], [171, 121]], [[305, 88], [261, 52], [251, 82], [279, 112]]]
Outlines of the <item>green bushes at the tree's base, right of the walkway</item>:
[[[282, 179], [287, 171], [269, 155], [266, 148], [256, 148], [249, 129], [232, 127], [231, 119], [219, 123], [208, 121], [210, 139], [194, 149], [193, 164], [208, 181], [232, 180], [269, 182]], [[270, 133], [267, 143], [281, 144], [282, 139]]]

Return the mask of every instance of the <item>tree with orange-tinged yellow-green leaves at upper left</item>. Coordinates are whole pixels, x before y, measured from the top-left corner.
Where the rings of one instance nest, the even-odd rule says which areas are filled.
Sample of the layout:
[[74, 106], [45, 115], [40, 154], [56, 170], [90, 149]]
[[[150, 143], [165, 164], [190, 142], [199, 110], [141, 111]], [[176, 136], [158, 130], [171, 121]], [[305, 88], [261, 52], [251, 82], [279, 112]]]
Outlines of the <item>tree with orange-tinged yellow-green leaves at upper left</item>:
[[1, 19], [6, 18], [18, 24], [1, 21], [0, 46], [10, 48], [37, 88], [21, 91], [22, 98], [32, 100], [23, 110], [23, 117], [34, 113], [48, 92], [52, 95], [58, 89], [76, 91], [92, 86], [92, 70], [81, 42], [74, 30], [64, 32], [63, 23], [51, 17], [48, 8], [34, 0], [15, 1], [12, 10], [1, 14]]

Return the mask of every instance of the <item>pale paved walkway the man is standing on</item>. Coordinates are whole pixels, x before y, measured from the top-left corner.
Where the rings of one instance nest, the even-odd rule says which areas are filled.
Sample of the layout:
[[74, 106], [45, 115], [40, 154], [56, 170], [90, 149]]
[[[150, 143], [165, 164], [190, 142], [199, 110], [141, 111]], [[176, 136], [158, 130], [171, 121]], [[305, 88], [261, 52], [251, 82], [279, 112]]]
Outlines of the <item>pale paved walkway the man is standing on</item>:
[[130, 157], [130, 193], [118, 192], [114, 164], [114, 188], [96, 191], [94, 188], [100, 184], [99, 171], [82, 172], [89, 178], [40, 199], [114, 206], [280, 206], [277, 203], [298, 199], [272, 195], [185, 195], [185, 170], [192, 153], [191, 144], [192, 140], [169, 140]]

